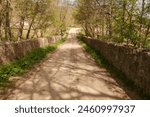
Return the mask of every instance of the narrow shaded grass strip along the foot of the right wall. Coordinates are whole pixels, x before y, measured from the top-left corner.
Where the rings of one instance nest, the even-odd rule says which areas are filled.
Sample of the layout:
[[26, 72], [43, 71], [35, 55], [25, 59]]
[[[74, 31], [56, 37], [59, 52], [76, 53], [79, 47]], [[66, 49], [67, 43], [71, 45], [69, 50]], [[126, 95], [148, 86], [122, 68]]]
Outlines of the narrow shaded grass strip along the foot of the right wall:
[[142, 89], [135, 86], [134, 82], [128, 79], [121, 70], [109, 63], [109, 61], [99, 51], [96, 51], [90, 45], [86, 44], [82, 38], [84, 38], [82, 35], [77, 36], [77, 39], [80, 41], [85, 51], [88, 52], [99, 65], [106, 68], [117, 81], [121, 81], [124, 86], [128, 87], [128, 90], [135, 90], [142, 99], [150, 99], [150, 94], [145, 94]]

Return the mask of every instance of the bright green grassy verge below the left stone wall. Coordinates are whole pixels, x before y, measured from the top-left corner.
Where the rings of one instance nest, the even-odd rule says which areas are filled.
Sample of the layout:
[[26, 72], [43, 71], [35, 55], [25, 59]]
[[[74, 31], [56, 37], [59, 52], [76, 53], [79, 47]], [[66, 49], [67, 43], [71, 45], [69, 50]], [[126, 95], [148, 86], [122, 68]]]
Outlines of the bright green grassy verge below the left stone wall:
[[50, 44], [44, 48], [37, 48], [29, 52], [24, 57], [0, 66], [0, 87], [9, 85], [9, 78], [11, 76], [21, 75], [30, 70], [34, 64], [46, 57], [46, 55], [62, 44], [65, 39], [59, 40], [54, 44]]

